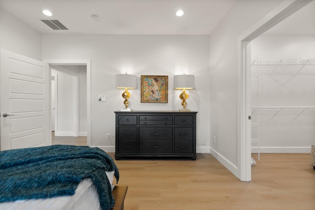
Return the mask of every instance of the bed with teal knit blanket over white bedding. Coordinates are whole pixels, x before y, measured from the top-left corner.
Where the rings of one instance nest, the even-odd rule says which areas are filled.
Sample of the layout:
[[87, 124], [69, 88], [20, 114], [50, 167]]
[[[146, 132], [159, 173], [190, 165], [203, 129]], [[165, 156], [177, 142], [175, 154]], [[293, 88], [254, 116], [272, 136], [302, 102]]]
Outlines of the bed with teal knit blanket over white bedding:
[[97, 147], [52, 145], [1, 151], [0, 209], [110, 210], [115, 206], [113, 190], [117, 191], [114, 176], [118, 183], [116, 164]]

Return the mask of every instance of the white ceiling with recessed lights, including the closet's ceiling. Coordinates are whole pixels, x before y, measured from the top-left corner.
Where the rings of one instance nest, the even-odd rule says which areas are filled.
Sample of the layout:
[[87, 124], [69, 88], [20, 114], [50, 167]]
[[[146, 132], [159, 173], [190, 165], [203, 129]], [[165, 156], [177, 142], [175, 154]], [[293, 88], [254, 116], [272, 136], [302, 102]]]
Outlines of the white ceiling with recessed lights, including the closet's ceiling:
[[[209, 35], [235, 1], [0, 0], [0, 8], [42, 34]], [[53, 16], [42, 14], [43, 9]], [[177, 9], [185, 14], [177, 17]], [[314, 11], [312, 2], [266, 34], [315, 35]], [[41, 19], [57, 19], [69, 30], [52, 30]]]

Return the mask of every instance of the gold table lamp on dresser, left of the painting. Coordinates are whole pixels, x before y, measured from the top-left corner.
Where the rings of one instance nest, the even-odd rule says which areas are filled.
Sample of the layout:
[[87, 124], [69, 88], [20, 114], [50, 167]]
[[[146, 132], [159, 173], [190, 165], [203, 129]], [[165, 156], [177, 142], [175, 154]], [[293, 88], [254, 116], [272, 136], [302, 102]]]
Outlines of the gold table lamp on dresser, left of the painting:
[[116, 88], [119, 89], [125, 89], [125, 92], [123, 93], [122, 97], [125, 99], [124, 105], [125, 108], [121, 111], [131, 111], [130, 108], [128, 108], [128, 99], [130, 98], [130, 93], [128, 92], [128, 89], [136, 89], [137, 88], [137, 76], [132, 74], [116, 74]]

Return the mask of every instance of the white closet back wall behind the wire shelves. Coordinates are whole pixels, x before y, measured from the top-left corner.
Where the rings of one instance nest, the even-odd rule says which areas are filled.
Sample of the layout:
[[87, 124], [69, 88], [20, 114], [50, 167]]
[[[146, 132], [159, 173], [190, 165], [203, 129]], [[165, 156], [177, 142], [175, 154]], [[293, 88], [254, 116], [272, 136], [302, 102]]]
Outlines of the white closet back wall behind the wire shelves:
[[[261, 35], [252, 41], [252, 59], [257, 55], [260, 60], [315, 59], [315, 35]], [[259, 106], [315, 106], [315, 65], [303, 67], [298, 64], [258, 67], [261, 72], [258, 74]], [[300, 72], [295, 75], [298, 70]], [[255, 88], [255, 76], [252, 84]], [[255, 95], [252, 99], [255, 105]], [[315, 139], [315, 110], [284, 108], [275, 115], [277, 111], [259, 112], [260, 152], [309, 153]], [[252, 119], [256, 117], [255, 113]], [[255, 128], [252, 128], [252, 134], [257, 137]], [[256, 147], [256, 144], [252, 146]], [[253, 148], [252, 151], [257, 150]]]

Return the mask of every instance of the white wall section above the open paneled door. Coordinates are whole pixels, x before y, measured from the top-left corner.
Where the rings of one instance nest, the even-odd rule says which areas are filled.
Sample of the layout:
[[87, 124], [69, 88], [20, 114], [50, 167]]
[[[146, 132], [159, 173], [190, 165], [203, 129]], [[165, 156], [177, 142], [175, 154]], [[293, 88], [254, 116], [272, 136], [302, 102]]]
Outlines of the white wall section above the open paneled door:
[[0, 48], [41, 60], [41, 35], [0, 8]]

